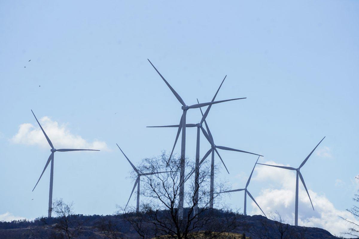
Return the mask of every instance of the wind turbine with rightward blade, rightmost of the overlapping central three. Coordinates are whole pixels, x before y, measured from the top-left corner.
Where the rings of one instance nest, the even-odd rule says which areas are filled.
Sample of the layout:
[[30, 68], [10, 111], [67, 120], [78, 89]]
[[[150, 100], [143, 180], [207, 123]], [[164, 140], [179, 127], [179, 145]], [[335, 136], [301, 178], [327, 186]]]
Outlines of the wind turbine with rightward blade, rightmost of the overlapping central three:
[[[197, 102], [199, 102], [198, 99], [197, 99]], [[201, 107], [200, 107], [200, 110], [201, 110], [201, 114], [203, 115], [203, 112], [202, 112]], [[204, 123], [205, 123], [205, 126], [206, 126], [206, 129], [207, 129], [208, 134], [207, 134], [207, 133], [205, 132], [205, 130], [202, 128], [202, 129], [203, 129], [203, 134], [205, 135], [205, 137], [206, 137], [206, 139], [208, 140], [208, 142], [211, 144], [211, 148], [207, 151], [207, 153], [205, 154], [205, 156], [202, 158], [200, 164], [209, 156], [210, 153], [212, 153], [209, 206], [210, 206], [210, 208], [213, 208], [213, 197], [214, 197], [214, 191], [213, 191], [213, 188], [214, 188], [214, 152], [217, 153], [218, 157], [219, 157], [220, 160], [222, 161], [222, 163], [223, 163], [225, 169], [227, 170], [228, 174], [229, 174], [229, 171], [228, 171], [227, 167], [225, 166], [225, 164], [224, 164], [224, 162], [223, 162], [223, 159], [222, 159], [222, 157], [219, 155], [217, 149], [237, 151], [237, 152], [242, 152], [242, 153], [249, 153], [249, 154], [254, 154], [254, 155], [257, 155], [257, 156], [262, 156], [262, 155], [256, 154], [256, 153], [247, 152], [247, 151], [243, 151], [243, 150], [239, 150], [239, 149], [233, 149], [233, 148], [228, 148], [228, 147], [224, 147], [224, 146], [215, 145], [215, 144], [214, 144], [213, 137], [212, 137], [212, 134], [211, 134], [211, 132], [210, 132], [210, 130], [209, 130], [209, 128], [208, 128], [208, 124], [207, 124], [206, 120], [204, 120]]]

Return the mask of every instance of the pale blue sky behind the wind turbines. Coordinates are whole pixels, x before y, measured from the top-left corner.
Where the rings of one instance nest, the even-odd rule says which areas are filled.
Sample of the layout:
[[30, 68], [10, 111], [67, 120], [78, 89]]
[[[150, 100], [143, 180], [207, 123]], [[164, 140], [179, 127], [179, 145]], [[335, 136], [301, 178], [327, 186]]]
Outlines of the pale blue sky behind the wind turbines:
[[[357, 1], [2, 1], [0, 214], [46, 215], [49, 170], [31, 190], [50, 148], [36, 135], [18, 134], [26, 123], [38, 130], [30, 109], [68, 142], [106, 149], [57, 153], [54, 198], [74, 201], [82, 214], [111, 214], [126, 203], [131, 168], [116, 143], [133, 162], [158, 155], [171, 149], [176, 130], [145, 126], [177, 124], [181, 116], [147, 58], [188, 105], [197, 97], [210, 101], [225, 75], [216, 99], [247, 97], [211, 108], [208, 124], [218, 145], [298, 167], [326, 136], [320, 155], [301, 172], [313, 193], [344, 211], [358, 189], [358, 10]], [[200, 111], [187, 117], [197, 123]], [[187, 132], [193, 158], [196, 130]], [[201, 155], [208, 149], [202, 137]], [[219, 165], [217, 177], [245, 185], [256, 157], [221, 156], [230, 175]], [[285, 187], [261, 180], [258, 170], [254, 197]], [[243, 195], [227, 200], [239, 209]], [[291, 218], [293, 208], [287, 211]], [[320, 217], [311, 213], [303, 210], [303, 220]]]

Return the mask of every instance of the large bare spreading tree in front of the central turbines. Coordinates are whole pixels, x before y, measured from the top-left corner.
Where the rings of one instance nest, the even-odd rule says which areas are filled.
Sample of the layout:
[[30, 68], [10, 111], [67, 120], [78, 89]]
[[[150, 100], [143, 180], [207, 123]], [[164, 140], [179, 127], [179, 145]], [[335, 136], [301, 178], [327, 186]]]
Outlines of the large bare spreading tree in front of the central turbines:
[[[183, 219], [178, 217], [180, 182], [180, 160], [168, 157], [163, 153], [160, 157], [146, 158], [138, 167], [141, 172], [169, 173], [150, 174], [143, 177], [141, 195], [145, 202], [141, 204], [139, 213], [132, 211], [124, 214], [141, 238], [176, 238], [191, 239], [205, 236], [218, 238], [224, 232], [237, 228], [237, 212], [226, 211], [220, 200], [220, 194], [215, 194], [217, 209], [209, 207], [210, 167], [201, 164], [200, 173], [194, 178], [195, 169], [190, 160], [186, 160], [185, 209]], [[136, 175], [134, 175], [136, 177]], [[198, 182], [198, 184], [197, 184]], [[197, 187], [195, 183], [199, 186]], [[217, 183], [215, 191], [225, 190], [227, 184]], [[198, 195], [198, 200], [196, 199]], [[198, 205], [198, 210], [195, 207]]]

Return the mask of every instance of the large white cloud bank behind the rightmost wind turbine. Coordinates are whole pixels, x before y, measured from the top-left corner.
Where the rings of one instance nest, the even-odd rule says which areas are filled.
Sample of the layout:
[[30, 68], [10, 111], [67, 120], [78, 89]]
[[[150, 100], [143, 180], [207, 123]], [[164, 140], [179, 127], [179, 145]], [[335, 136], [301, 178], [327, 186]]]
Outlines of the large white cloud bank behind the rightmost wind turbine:
[[[273, 161], [266, 164], [284, 166]], [[286, 223], [294, 224], [295, 171], [261, 165], [258, 165], [255, 171], [257, 174], [254, 180], [270, 181], [272, 184], [270, 188], [262, 189], [260, 195], [255, 198], [263, 211], [267, 214], [278, 211]], [[300, 181], [299, 185], [299, 225], [319, 227], [332, 234], [340, 235], [347, 231], [348, 224], [339, 216], [355, 221], [348, 211], [337, 210], [325, 195], [308, 189], [315, 210], [313, 211], [307, 192]], [[261, 214], [254, 202], [252, 202], [252, 208], [252, 214]]]

